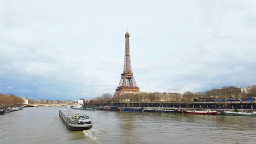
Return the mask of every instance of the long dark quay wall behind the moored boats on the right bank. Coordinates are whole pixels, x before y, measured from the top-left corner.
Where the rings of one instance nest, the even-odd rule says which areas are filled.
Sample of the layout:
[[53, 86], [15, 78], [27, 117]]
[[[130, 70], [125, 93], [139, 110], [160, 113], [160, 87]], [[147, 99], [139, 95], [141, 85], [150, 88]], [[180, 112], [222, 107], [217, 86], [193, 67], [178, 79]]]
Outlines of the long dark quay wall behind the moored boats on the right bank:
[[256, 101], [170, 102], [170, 103], [100, 103], [99, 106], [161, 107], [164, 109], [249, 109], [256, 110]]

